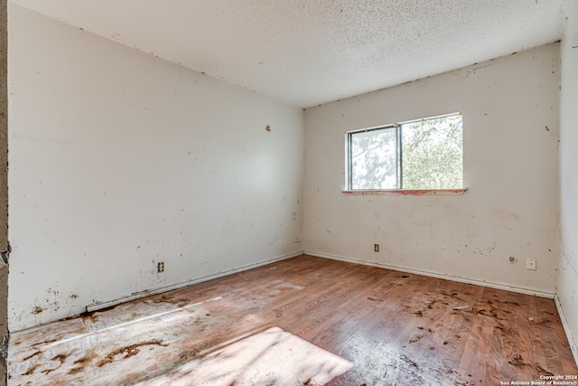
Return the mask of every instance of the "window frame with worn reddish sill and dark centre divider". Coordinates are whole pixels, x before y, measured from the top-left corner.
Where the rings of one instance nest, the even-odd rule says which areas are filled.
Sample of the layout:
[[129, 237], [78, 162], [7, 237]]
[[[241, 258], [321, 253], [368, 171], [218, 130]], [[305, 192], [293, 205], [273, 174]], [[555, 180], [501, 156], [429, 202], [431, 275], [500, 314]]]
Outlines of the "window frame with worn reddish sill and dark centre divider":
[[[421, 122], [424, 120], [430, 119], [437, 119], [437, 118], [445, 118], [445, 117], [452, 117], [452, 116], [461, 116], [462, 123], [463, 123], [463, 115], [461, 111], [452, 112], [448, 114], [442, 114], [433, 117], [427, 118], [418, 118], [418, 119], [411, 119], [406, 120], [403, 122], [396, 122], [387, 125], [379, 125], [375, 127], [364, 127], [354, 130], [349, 130], [345, 132], [345, 188], [343, 189], [343, 193], [350, 194], [350, 195], [446, 195], [446, 194], [463, 194], [468, 189], [466, 187], [462, 188], [455, 188], [455, 189], [404, 189], [404, 188], [395, 188], [395, 189], [351, 189], [352, 185], [352, 175], [351, 175], [351, 168], [352, 168], [352, 156], [351, 156], [351, 135], [356, 133], [364, 133], [370, 132], [375, 130], [383, 130], [388, 128], [396, 128], [396, 179], [397, 179], [397, 186], [403, 186], [403, 173], [402, 173], [402, 163], [403, 163], [403, 126], [406, 124], [411, 124], [415, 122]], [[461, 133], [463, 136], [463, 126], [461, 127]], [[463, 141], [463, 139], [462, 139]], [[461, 147], [461, 162], [463, 164], [463, 142]], [[463, 184], [463, 174], [462, 174], [462, 186]]]

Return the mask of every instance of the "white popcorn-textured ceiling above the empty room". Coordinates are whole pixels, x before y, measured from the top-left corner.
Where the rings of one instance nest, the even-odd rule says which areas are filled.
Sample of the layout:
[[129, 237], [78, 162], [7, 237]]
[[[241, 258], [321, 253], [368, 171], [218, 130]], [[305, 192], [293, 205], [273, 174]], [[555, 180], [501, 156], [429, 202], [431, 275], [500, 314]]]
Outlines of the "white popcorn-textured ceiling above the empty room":
[[13, 0], [308, 108], [555, 42], [575, 0]]

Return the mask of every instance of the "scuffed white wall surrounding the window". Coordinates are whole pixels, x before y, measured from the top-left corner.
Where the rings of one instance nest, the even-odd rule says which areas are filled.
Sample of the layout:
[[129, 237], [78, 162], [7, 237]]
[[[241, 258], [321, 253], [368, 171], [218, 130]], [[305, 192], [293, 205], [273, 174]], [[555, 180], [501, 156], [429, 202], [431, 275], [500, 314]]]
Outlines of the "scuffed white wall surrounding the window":
[[[552, 296], [558, 86], [555, 43], [308, 109], [306, 252]], [[463, 113], [468, 192], [341, 193], [346, 131], [455, 111]], [[537, 259], [536, 271], [526, 269], [527, 258]]]

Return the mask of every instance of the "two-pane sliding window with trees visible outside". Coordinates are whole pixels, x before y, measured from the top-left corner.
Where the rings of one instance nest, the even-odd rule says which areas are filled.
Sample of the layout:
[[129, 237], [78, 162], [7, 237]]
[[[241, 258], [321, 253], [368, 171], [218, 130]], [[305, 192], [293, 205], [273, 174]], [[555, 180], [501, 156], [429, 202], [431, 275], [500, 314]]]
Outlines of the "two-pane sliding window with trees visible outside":
[[461, 113], [347, 133], [348, 190], [463, 188]]

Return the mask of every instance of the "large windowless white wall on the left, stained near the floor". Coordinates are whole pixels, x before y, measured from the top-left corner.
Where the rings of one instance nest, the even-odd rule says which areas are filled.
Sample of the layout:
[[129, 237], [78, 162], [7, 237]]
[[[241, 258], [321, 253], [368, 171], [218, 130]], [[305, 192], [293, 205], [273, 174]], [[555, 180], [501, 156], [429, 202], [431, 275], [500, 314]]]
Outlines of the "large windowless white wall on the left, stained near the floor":
[[301, 109], [9, 18], [12, 331], [303, 251]]

